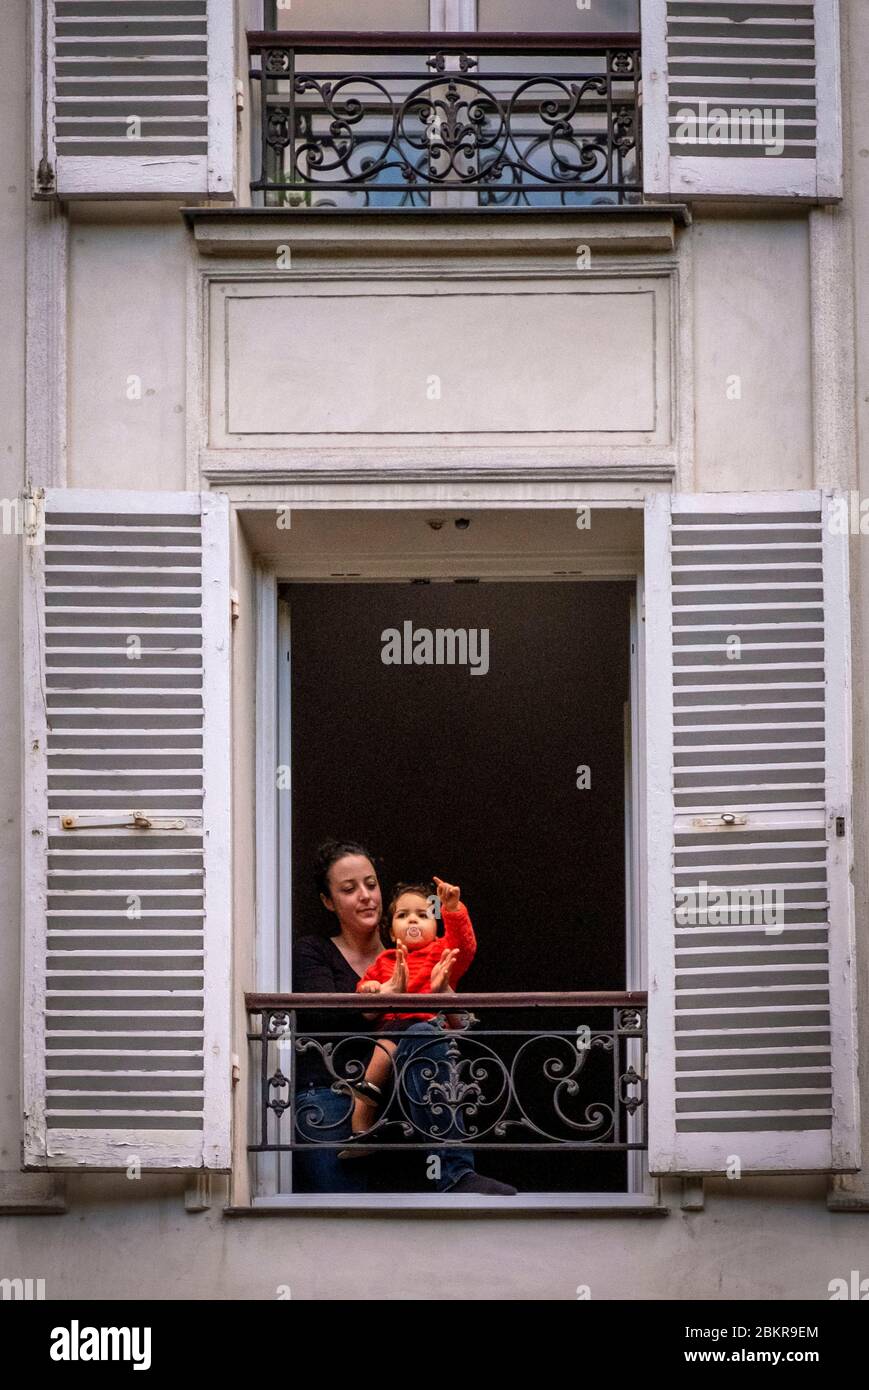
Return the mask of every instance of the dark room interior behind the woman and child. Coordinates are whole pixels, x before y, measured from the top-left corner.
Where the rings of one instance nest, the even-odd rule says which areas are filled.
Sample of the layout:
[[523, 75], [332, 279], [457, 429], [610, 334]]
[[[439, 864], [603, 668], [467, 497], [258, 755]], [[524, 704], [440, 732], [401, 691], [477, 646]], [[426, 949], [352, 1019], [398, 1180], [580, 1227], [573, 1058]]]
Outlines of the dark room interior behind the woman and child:
[[[311, 880], [317, 844], [357, 838], [381, 856], [384, 898], [393, 881], [432, 873], [462, 885], [478, 949], [460, 990], [624, 988], [630, 592], [624, 582], [285, 587], [295, 937], [328, 929]], [[488, 674], [384, 664], [382, 631], [407, 620], [488, 628]], [[588, 790], [577, 790], [580, 764]], [[577, 1022], [546, 1013], [539, 1027]], [[608, 1068], [590, 1058], [585, 1101], [609, 1098]], [[613, 1154], [487, 1152], [478, 1168], [523, 1191], [626, 1186], [624, 1155]]]

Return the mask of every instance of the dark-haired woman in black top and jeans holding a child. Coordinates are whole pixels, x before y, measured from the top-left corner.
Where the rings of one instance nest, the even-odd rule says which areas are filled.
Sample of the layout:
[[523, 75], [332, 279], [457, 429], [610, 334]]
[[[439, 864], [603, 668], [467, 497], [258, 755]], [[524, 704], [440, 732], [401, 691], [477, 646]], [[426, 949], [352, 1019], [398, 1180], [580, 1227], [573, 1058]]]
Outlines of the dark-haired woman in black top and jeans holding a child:
[[[382, 951], [380, 922], [382, 898], [380, 881], [371, 855], [353, 841], [331, 840], [317, 851], [316, 881], [320, 901], [336, 919], [336, 930], [331, 937], [302, 937], [293, 951], [293, 991], [296, 994], [355, 994], [360, 977], [374, 963]], [[395, 974], [385, 988], [400, 994], [407, 986], [407, 970], [403, 959], [396, 960]], [[334, 1033], [362, 1033], [367, 1024], [360, 1015], [335, 1009], [334, 1013], [302, 1016], [300, 1031], [320, 1029]], [[424, 1031], [441, 1040], [442, 1033], [435, 1024], [416, 1024], [413, 1037], [407, 1036], [399, 1045], [395, 1058], [400, 1068], [407, 1048], [420, 1047], [419, 1036]], [[414, 1041], [416, 1038], [416, 1041]], [[335, 1041], [335, 1040], [324, 1040]], [[435, 1056], [435, 1048], [427, 1045], [427, 1056]], [[334, 1091], [334, 1076], [330, 1073], [317, 1047], [303, 1049], [296, 1058], [296, 1126], [302, 1137], [314, 1143], [317, 1138], [334, 1144], [350, 1136], [350, 1115], [353, 1097], [348, 1091]], [[414, 1101], [420, 1111], [420, 1127], [424, 1129], [424, 1104], [421, 1095]], [[412, 1105], [413, 1111], [413, 1105]], [[444, 1147], [438, 1150], [441, 1176], [434, 1183], [441, 1193], [478, 1193], [487, 1195], [512, 1197], [514, 1188], [492, 1177], [481, 1177], [474, 1169], [470, 1150]], [[295, 1151], [295, 1172], [300, 1179], [298, 1186], [313, 1191], [364, 1191], [364, 1176], [359, 1169], [364, 1163], [348, 1163], [338, 1158], [336, 1147], [317, 1147]]]

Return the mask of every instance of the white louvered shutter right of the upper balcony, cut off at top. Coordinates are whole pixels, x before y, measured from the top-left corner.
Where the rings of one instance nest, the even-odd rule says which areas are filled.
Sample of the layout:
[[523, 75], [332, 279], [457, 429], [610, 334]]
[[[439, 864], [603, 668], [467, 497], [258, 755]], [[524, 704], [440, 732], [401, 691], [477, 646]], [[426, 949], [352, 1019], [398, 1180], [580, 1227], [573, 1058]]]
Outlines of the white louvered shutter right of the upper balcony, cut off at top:
[[838, 0], [641, 0], [641, 18], [648, 195], [841, 197]]

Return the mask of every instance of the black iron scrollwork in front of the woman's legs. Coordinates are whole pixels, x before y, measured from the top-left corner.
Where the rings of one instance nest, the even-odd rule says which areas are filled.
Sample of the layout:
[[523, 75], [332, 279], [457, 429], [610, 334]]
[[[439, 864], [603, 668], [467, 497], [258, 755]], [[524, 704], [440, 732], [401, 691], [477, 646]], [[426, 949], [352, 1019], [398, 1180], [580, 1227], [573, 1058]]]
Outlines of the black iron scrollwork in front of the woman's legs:
[[[624, 1147], [627, 1120], [645, 1104], [644, 1079], [626, 1055], [638, 1045], [631, 1038], [642, 1042], [644, 1023], [641, 1009], [615, 1008], [610, 1027], [474, 1034], [432, 1024], [398, 1034], [387, 1045], [360, 1033], [293, 1030], [288, 1038], [289, 1015], [273, 1012], [263, 1040], [279, 1061], [264, 1077], [263, 1102], [278, 1126], [292, 1111], [292, 1133], [277, 1148], [341, 1143], [335, 1134], [346, 1133], [353, 1088], [378, 1047], [389, 1059], [389, 1081], [366, 1143]], [[341, 1098], [338, 1119], [334, 1105], [328, 1113], [324, 1109], [321, 1093], [293, 1097], [302, 1056], [316, 1059]]]

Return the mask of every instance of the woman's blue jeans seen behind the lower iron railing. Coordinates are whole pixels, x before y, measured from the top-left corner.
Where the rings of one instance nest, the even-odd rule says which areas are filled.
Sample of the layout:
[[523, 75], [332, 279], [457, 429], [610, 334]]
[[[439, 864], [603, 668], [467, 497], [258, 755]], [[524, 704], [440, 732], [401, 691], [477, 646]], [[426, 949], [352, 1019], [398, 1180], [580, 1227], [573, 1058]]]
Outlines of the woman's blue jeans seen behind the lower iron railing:
[[[431, 1042], [432, 1037], [435, 1042]], [[420, 1065], [413, 1065], [413, 1058], [417, 1055], [420, 1063], [423, 1058], [424, 1062], [432, 1063], [438, 1074], [446, 1069], [446, 1038], [438, 1023], [428, 1023], [424, 1019], [412, 1023], [400, 1034], [393, 1058], [396, 1074], [406, 1068], [403, 1094], [409, 1118], [420, 1130], [413, 1136], [416, 1141], [431, 1129], [431, 1106], [425, 1102], [431, 1077], [423, 1076]], [[311, 1086], [298, 1093], [296, 1137], [310, 1138], [311, 1147], [298, 1148], [293, 1152], [293, 1186], [299, 1182], [316, 1193], [368, 1190], [363, 1172], [364, 1162], [341, 1159], [336, 1148], [323, 1147], [324, 1141], [349, 1140], [352, 1113], [353, 1097], [346, 1091], [334, 1091], [330, 1086]], [[462, 1131], [460, 1126], [462, 1120], [457, 1118], [453, 1129]], [[449, 1191], [466, 1173], [474, 1172], [474, 1155], [469, 1148], [432, 1143], [432, 1155], [438, 1159], [438, 1176], [432, 1183], [437, 1193]]]

